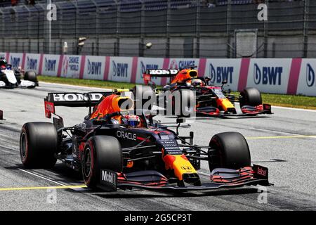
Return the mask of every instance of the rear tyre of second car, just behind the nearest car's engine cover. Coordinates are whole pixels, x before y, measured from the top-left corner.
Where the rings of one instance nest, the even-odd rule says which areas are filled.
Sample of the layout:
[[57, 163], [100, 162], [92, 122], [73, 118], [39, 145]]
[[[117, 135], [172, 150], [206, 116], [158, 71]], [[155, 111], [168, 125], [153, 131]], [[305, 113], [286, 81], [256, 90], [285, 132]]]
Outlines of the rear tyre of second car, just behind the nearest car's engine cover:
[[[134, 99], [136, 100], [136, 109], [138, 110], [151, 110], [152, 104], [156, 100], [156, 95], [151, 86], [136, 85], [132, 89], [134, 94]], [[140, 105], [141, 103], [141, 105]], [[141, 108], [140, 108], [141, 106]]]

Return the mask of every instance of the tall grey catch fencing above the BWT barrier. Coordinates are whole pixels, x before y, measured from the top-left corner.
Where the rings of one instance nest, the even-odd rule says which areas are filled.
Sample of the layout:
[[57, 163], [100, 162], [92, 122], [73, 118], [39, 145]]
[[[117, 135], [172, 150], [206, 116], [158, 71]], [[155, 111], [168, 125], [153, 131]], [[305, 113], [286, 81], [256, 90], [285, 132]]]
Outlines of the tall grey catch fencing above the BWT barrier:
[[[62, 54], [67, 42], [69, 55], [316, 58], [316, 1], [265, 0], [266, 21], [252, 0], [52, 1], [51, 23], [36, 2], [0, 8], [0, 51]], [[254, 37], [239, 43], [243, 32]]]

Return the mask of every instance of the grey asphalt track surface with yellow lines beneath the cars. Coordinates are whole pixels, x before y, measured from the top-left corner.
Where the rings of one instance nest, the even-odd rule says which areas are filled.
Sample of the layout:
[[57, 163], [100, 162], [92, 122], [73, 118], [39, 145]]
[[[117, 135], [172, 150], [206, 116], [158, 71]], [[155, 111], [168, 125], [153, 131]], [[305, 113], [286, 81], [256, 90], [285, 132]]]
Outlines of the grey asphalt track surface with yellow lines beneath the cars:
[[[251, 150], [251, 161], [269, 168], [267, 202], [259, 203], [258, 186], [169, 193], [156, 191], [93, 192], [84, 188], [79, 174], [58, 162], [54, 169], [24, 169], [19, 155], [19, 134], [25, 122], [50, 122], [44, 115], [48, 92], [100, 89], [40, 83], [37, 89], [1, 89], [0, 210], [316, 210], [316, 110], [272, 108], [271, 116], [190, 120], [187, 135], [208, 145], [213, 134], [238, 131]], [[316, 100], [315, 100], [316, 101]], [[65, 126], [81, 122], [86, 108], [57, 108]], [[162, 118], [161, 118], [162, 119]], [[174, 121], [164, 118], [163, 121]], [[201, 177], [207, 179], [208, 165]], [[51, 197], [55, 196], [55, 197]]]

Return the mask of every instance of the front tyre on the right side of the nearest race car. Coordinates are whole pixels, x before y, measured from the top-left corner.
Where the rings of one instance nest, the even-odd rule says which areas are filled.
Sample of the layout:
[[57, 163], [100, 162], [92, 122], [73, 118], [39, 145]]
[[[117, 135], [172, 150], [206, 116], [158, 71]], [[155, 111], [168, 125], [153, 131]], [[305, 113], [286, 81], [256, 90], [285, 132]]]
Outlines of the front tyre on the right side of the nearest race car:
[[210, 172], [215, 168], [240, 169], [251, 165], [249, 146], [242, 134], [224, 132], [216, 134], [209, 142]]

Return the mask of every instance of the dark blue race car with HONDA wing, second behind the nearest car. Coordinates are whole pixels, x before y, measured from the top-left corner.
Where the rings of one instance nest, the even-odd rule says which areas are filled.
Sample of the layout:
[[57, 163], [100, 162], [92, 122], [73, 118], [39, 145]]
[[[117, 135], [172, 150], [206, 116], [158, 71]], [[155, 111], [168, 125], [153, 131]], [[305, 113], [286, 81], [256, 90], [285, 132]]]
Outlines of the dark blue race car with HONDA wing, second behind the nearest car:
[[[272, 114], [271, 105], [263, 104], [261, 93], [258, 89], [248, 87], [240, 92], [239, 96], [231, 94], [230, 89], [224, 89], [226, 81], [221, 86], [210, 85], [209, 78], [198, 77], [197, 70], [194, 68], [186, 68], [182, 70], [146, 70], [143, 74], [145, 84], [149, 84], [159, 93], [166, 91], [181, 91], [183, 98], [196, 98], [195, 113], [197, 115], [208, 115], [215, 117], [225, 116], [244, 116], [258, 114]], [[157, 89], [155, 84], [151, 82], [151, 77], [169, 77], [170, 82], [162, 89]], [[192, 90], [192, 91], [183, 91]], [[165, 96], [163, 96], [165, 98]], [[172, 98], [165, 98], [171, 102], [174, 108], [176, 103]], [[242, 113], [237, 114], [235, 103], [239, 102]], [[182, 104], [182, 103], [181, 103]], [[183, 116], [183, 115], [181, 115]]]

